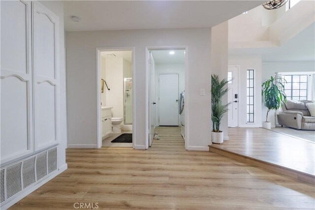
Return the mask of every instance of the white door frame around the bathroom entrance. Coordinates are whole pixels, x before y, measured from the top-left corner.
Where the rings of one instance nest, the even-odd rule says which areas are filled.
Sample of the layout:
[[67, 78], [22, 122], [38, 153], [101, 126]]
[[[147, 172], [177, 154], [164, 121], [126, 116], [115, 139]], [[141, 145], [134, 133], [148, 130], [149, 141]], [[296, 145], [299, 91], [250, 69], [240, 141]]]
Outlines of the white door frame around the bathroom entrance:
[[[102, 129], [101, 129], [101, 105], [100, 105], [100, 53], [103, 51], [132, 51], [132, 90], [135, 90], [135, 77], [134, 77], [134, 47], [97, 47], [96, 48], [96, 142], [97, 148], [102, 147]], [[134, 133], [136, 131], [134, 114], [135, 110], [135, 94], [132, 94], [132, 148], [134, 148]]]

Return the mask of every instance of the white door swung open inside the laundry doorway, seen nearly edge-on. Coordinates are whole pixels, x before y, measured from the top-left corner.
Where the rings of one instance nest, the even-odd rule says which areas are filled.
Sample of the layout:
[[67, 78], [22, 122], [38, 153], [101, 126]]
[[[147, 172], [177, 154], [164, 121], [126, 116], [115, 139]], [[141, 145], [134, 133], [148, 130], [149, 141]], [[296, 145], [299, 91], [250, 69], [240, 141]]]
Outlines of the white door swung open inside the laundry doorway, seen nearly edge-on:
[[152, 53], [150, 52], [149, 61], [149, 73], [150, 73], [150, 83], [149, 83], [149, 146], [151, 147], [154, 136], [154, 129], [156, 127], [156, 89], [155, 89], [155, 66]]

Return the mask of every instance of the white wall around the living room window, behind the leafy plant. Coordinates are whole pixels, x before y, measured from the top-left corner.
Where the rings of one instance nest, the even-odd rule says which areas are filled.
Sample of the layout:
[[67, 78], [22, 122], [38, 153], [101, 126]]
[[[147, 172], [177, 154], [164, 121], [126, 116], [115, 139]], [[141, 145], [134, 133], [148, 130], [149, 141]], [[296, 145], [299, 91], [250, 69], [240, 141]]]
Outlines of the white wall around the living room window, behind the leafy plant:
[[[315, 72], [315, 61], [294, 61], [294, 62], [265, 62], [262, 63], [262, 81], [275, 76], [276, 72]], [[262, 120], [265, 121], [267, 108], [262, 106]], [[275, 112], [272, 110], [268, 114], [271, 126], [275, 127]]]

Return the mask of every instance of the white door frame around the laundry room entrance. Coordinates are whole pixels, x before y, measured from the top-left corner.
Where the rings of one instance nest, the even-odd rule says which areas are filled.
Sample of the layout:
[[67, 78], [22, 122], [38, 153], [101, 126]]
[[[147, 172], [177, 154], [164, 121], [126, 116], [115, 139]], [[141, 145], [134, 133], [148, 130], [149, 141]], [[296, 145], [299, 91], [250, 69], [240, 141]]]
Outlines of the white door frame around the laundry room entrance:
[[189, 107], [189, 94], [187, 91], [187, 88], [189, 87], [189, 68], [188, 68], [188, 46], [147, 46], [145, 49], [145, 62], [146, 62], [146, 84], [145, 84], [145, 113], [146, 113], [146, 133], [145, 133], [145, 147], [146, 149], [149, 148], [149, 79], [150, 79], [150, 72], [149, 72], [149, 59], [150, 51], [154, 50], [185, 50], [185, 149], [188, 150], [188, 144], [189, 144], [189, 135], [188, 135], [188, 107]]

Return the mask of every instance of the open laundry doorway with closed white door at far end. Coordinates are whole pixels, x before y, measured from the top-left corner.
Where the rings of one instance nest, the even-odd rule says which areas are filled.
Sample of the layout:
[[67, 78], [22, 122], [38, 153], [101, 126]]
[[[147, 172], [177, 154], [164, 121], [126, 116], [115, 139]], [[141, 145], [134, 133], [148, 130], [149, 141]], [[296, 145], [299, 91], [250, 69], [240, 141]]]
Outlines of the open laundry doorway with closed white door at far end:
[[[147, 136], [146, 148], [167, 135], [185, 139], [185, 110], [181, 94], [186, 87], [186, 48], [147, 49]], [[172, 134], [169, 133], [172, 131]], [[166, 136], [164, 136], [166, 134]]]

